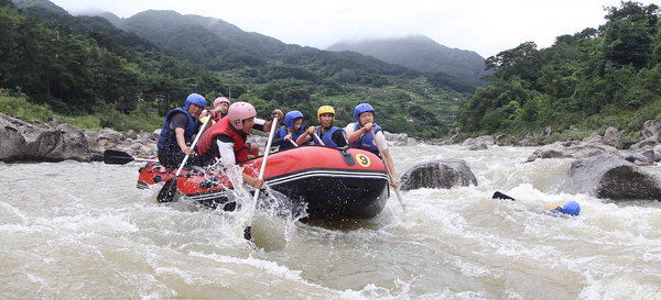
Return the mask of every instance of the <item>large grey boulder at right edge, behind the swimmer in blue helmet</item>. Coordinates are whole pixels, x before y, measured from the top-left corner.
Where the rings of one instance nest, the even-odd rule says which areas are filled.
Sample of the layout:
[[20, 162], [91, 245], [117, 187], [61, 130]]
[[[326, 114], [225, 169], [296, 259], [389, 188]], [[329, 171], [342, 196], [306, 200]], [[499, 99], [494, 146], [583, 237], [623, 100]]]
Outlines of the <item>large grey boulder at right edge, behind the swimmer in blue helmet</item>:
[[609, 199], [661, 199], [653, 176], [624, 158], [599, 155], [572, 163], [570, 177], [579, 192]]

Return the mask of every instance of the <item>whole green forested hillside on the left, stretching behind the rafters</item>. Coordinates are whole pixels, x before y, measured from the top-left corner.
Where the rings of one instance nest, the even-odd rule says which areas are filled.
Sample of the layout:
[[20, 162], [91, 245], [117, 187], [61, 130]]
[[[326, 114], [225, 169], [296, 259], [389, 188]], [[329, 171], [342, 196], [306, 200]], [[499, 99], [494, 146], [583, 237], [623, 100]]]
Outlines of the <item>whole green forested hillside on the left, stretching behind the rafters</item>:
[[22, 1], [19, 10], [0, 0], [0, 108], [24, 98], [75, 124], [84, 118], [83, 126], [151, 131], [191, 92], [209, 103], [218, 96], [247, 100], [264, 115], [299, 109], [311, 121], [319, 105], [332, 104], [340, 125], [367, 101], [389, 131], [437, 137], [469, 97], [448, 87], [448, 76], [286, 45], [210, 18], [147, 11], [112, 19], [127, 32], [51, 4]]

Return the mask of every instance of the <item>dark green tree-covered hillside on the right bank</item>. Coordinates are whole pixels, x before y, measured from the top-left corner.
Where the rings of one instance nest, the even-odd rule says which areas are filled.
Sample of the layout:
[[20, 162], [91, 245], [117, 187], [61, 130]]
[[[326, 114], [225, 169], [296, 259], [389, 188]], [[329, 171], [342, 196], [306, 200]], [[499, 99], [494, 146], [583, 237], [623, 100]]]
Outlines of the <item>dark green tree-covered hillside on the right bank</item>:
[[524, 134], [551, 126], [582, 132], [616, 126], [638, 131], [661, 119], [661, 22], [659, 7], [622, 2], [607, 22], [553, 46], [532, 42], [487, 58], [491, 86], [479, 88], [459, 109], [470, 135]]

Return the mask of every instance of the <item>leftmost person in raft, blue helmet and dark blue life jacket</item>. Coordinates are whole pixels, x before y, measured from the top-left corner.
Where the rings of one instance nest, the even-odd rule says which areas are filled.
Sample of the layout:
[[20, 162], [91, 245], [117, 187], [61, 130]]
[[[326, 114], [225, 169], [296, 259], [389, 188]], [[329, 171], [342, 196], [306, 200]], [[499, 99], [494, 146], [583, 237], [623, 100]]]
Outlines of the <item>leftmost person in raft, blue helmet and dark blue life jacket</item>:
[[186, 155], [191, 155], [186, 165], [199, 165], [199, 157], [195, 157], [195, 151], [189, 147], [199, 130], [202, 122], [197, 120], [206, 100], [198, 93], [186, 97], [183, 108], [175, 108], [165, 114], [163, 129], [156, 143], [158, 156], [161, 165], [165, 167], [178, 167]]

